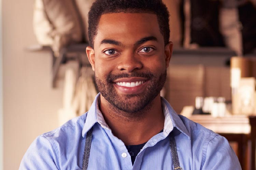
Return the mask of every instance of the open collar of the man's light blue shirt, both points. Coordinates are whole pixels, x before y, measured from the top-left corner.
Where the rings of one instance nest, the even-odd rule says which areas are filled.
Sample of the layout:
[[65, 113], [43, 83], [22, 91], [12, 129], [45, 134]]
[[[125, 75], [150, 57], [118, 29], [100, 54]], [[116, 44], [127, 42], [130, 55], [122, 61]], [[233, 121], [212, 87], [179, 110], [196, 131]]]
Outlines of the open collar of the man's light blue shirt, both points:
[[[100, 93], [95, 97], [93, 104], [91, 105], [89, 111], [87, 112], [87, 117], [85, 120], [85, 124], [83, 127], [82, 135], [83, 137], [87, 133], [91, 127], [98, 122], [103, 128], [110, 129], [106, 124], [103, 115], [98, 106], [98, 99], [100, 97]], [[180, 132], [184, 133], [186, 136], [190, 137], [184, 123], [180, 119], [180, 117], [173, 110], [171, 105], [167, 100], [161, 97], [162, 110], [165, 115], [165, 124], [163, 128], [163, 133], [168, 136], [169, 133], [173, 130], [173, 127], [176, 127]]]

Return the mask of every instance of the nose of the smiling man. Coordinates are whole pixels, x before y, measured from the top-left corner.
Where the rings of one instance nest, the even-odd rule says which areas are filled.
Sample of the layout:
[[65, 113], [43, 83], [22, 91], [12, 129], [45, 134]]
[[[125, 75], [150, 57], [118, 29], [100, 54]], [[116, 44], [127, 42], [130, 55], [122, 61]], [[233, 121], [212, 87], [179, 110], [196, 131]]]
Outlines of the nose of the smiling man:
[[143, 67], [140, 57], [136, 54], [124, 54], [120, 56], [120, 62], [117, 65], [118, 70], [132, 72]]

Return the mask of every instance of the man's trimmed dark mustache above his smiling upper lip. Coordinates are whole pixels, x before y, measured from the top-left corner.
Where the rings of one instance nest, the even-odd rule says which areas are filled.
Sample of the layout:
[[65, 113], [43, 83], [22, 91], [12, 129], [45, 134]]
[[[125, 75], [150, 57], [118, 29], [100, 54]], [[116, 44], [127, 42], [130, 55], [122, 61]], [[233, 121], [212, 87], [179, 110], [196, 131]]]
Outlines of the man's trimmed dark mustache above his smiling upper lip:
[[154, 78], [154, 74], [151, 72], [132, 72], [132, 73], [121, 73], [121, 74], [109, 74], [106, 77], [106, 81], [108, 83], [113, 83], [116, 79], [121, 79], [121, 78], [130, 78], [130, 77], [141, 77], [141, 78], [146, 78], [146, 79], [152, 79]]

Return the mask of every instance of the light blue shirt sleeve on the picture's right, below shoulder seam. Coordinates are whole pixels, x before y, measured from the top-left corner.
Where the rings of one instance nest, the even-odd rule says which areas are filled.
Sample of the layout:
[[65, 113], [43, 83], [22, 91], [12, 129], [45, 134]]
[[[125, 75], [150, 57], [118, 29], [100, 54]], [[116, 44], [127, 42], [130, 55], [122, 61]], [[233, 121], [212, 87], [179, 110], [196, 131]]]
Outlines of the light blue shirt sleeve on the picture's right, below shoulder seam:
[[217, 135], [209, 141], [202, 170], [242, 170], [237, 155], [223, 136]]

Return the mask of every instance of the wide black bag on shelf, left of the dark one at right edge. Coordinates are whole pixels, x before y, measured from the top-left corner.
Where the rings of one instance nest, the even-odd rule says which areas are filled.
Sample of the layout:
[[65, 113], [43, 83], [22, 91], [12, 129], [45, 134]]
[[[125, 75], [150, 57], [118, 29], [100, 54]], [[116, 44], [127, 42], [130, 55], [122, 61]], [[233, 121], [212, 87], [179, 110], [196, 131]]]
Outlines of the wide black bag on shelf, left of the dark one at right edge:
[[191, 0], [191, 42], [201, 47], [224, 46], [219, 32], [219, 7], [217, 0]]

